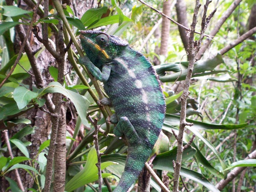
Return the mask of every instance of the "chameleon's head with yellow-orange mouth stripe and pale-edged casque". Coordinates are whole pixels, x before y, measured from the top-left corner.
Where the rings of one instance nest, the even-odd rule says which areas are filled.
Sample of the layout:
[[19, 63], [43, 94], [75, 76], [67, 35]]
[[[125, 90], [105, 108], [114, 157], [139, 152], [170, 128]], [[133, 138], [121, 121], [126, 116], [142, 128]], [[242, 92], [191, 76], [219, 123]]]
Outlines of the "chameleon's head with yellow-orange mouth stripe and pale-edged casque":
[[128, 46], [127, 41], [101, 31], [81, 31], [80, 39], [86, 55], [98, 65], [112, 61], [122, 47]]

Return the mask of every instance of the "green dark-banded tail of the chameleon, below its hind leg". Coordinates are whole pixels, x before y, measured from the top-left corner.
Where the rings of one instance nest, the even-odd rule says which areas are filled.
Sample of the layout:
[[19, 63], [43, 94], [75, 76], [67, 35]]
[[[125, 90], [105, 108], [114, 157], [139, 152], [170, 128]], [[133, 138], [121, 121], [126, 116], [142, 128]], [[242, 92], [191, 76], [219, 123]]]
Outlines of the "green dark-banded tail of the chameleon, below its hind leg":
[[125, 163], [125, 170], [113, 192], [127, 192], [137, 180], [140, 172], [145, 166], [145, 162], [151, 154], [152, 149], [145, 145], [128, 148], [128, 156]]

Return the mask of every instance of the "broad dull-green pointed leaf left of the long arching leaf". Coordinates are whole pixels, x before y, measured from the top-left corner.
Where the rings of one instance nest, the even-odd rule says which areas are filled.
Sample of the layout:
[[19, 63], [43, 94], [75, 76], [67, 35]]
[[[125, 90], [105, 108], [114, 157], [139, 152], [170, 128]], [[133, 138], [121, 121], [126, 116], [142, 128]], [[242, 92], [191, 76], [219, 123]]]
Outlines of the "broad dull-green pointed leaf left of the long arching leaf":
[[13, 98], [19, 109], [26, 107], [26, 105], [28, 105], [29, 102], [37, 96], [38, 93], [32, 92], [25, 87], [16, 87], [13, 92]]

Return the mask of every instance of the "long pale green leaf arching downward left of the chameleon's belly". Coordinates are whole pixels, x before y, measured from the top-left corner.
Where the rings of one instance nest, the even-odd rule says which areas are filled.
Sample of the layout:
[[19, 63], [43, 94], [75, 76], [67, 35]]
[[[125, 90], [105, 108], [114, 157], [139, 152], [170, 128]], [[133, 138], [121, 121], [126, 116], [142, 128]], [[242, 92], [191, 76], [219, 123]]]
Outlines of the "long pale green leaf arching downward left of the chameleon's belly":
[[76, 111], [79, 113], [81, 117], [82, 123], [84, 125], [87, 124], [86, 122], [86, 111], [90, 105], [88, 99], [84, 96], [79, 95], [71, 90], [65, 89], [60, 83], [58, 82], [51, 82], [49, 85], [41, 92], [43, 93], [61, 93], [67, 98], [69, 98], [76, 107]]

